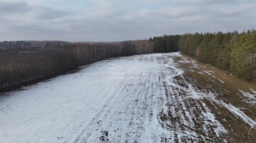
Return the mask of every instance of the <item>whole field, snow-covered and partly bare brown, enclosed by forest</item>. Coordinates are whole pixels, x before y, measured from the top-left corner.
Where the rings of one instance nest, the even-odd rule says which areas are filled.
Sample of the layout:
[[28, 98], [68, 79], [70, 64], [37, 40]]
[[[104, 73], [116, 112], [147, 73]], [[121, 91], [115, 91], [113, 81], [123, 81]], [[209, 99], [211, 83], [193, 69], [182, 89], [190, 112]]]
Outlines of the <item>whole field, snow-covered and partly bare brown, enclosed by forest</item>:
[[97, 62], [2, 95], [0, 142], [255, 142], [255, 89], [214, 74], [179, 53]]

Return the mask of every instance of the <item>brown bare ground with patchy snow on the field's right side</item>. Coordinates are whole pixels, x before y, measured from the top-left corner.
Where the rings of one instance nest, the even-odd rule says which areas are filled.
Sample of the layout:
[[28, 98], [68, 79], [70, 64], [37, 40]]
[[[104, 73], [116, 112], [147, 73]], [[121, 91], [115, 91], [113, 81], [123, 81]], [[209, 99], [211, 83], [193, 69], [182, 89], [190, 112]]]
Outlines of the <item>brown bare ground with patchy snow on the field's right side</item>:
[[[167, 67], [173, 66], [170, 70], [183, 72], [164, 79], [172, 81], [171, 84], [165, 81], [167, 85], [164, 87], [168, 96], [173, 96], [158, 115], [159, 123], [164, 128], [185, 135], [182, 140], [185, 142], [256, 141], [255, 103], [245, 102], [250, 98], [241, 96], [240, 91], [244, 89], [250, 92], [250, 88], [255, 89], [254, 83], [241, 81], [234, 76], [227, 78], [230, 75], [225, 71], [195, 62], [190, 57], [168, 58], [169, 63], [165, 63]], [[172, 61], [174, 63], [170, 64]], [[254, 93], [251, 90], [250, 94], [242, 94], [252, 97]]]

